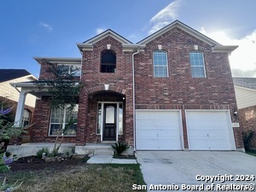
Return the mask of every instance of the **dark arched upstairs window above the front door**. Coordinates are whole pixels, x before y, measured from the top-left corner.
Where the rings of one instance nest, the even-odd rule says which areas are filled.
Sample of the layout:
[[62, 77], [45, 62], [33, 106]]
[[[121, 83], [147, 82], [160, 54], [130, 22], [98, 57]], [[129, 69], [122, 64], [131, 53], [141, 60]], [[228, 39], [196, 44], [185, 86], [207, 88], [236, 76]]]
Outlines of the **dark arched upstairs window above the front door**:
[[113, 50], [102, 51], [101, 73], [116, 73], [116, 54]]

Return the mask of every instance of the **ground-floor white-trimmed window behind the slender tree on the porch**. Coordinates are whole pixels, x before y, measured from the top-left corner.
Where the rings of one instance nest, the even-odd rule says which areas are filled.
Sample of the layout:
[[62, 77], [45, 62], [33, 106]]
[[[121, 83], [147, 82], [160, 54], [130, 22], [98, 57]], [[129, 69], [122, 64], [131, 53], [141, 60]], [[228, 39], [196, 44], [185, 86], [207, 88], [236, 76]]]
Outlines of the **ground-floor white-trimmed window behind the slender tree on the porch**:
[[73, 109], [70, 105], [65, 108], [51, 110], [49, 123], [49, 136], [65, 135], [75, 136], [77, 131], [79, 105], [76, 104]]

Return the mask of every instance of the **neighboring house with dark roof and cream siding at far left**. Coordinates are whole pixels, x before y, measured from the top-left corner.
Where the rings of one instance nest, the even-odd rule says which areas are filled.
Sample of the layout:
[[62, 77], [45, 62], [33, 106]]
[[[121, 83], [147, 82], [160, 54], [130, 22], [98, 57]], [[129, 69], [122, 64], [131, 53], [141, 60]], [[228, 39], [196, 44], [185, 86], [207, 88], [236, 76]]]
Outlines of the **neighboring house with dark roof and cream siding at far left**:
[[[13, 111], [16, 110], [19, 102], [20, 88], [15, 88], [11, 84], [20, 82], [36, 81], [37, 78], [25, 69], [0, 69], [0, 100], [3, 105], [9, 107], [14, 106]], [[32, 122], [32, 115], [34, 112], [36, 97], [28, 94], [26, 102], [22, 110], [22, 119], [18, 119], [21, 125], [28, 125]], [[2, 107], [1, 107], [2, 108]], [[17, 122], [16, 122], [17, 123]]]

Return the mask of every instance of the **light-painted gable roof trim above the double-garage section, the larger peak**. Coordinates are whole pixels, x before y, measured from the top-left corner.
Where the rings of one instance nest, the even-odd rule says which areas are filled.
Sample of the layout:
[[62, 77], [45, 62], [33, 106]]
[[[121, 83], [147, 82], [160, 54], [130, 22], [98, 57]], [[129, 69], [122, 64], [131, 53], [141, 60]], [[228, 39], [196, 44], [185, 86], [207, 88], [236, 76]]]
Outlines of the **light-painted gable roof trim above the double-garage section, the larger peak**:
[[171, 24], [161, 28], [159, 31], [154, 32], [153, 34], [149, 35], [147, 38], [143, 38], [143, 40], [139, 41], [137, 44], [148, 44], [150, 41], [154, 40], [155, 38], [160, 37], [162, 34], [172, 30], [174, 27], [178, 27], [182, 29], [184, 32], [188, 32], [190, 35], [194, 36], [195, 38], [200, 39], [201, 41], [205, 42], [206, 44], [209, 44], [212, 46], [213, 52], [228, 52], [231, 53], [233, 50], [235, 50], [238, 46], [236, 45], [222, 45], [218, 44], [218, 42], [212, 40], [212, 38], [208, 38], [201, 32], [196, 31], [195, 29], [191, 28], [190, 26], [187, 26], [183, 24], [183, 22], [179, 20], [173, 21]]

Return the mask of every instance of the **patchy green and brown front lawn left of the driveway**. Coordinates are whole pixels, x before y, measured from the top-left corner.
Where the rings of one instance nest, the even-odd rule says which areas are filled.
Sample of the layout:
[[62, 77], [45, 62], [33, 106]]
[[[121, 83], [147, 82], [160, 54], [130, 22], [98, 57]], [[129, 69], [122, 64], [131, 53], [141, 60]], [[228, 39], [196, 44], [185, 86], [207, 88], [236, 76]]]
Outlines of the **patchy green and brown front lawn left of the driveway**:
[[17, 192], [123, 192], [133, 191], [132, 184], [145, 184], [139, 165], [84, 164], [57, 171], [9, 172], [5, 176], [9, 183], [23, 181]]

